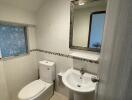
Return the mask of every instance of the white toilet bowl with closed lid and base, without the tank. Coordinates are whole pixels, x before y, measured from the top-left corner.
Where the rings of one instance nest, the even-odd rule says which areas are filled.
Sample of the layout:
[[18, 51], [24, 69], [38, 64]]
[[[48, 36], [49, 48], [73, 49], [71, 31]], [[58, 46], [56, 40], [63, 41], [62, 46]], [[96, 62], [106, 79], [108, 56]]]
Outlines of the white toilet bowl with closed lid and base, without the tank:
[[18, 94], [19, 100], [49, 100], [53, 92], [53, 84], [35, 80], [26, 85]]

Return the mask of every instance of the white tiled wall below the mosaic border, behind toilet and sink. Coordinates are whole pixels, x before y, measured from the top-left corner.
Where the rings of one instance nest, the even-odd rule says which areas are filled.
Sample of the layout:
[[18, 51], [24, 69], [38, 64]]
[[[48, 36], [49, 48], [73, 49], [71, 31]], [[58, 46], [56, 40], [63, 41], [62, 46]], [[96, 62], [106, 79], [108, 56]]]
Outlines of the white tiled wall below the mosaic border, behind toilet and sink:
[[[47, 53], [48, 52], [48, 53]], [[53, 52], [47, 51], [47, 52], [40, 52], [38, 50], [37, 56], [38, 61], [40, 60], [49, 60], [56, 63], [56, 91], [68, 96], [68, 89], [65, 88], [65, 86], [62, 84], [62, 80], [57, 76], [60, 72], [65, 72], [69, 68], [85, 68], [89, 73], [96, 74], [98, 64], [97, 63], [91, 63], [89, 61], [81, 60], [81, 59], [74, 59], [72, 57], [62, 56], [54, 54]]]

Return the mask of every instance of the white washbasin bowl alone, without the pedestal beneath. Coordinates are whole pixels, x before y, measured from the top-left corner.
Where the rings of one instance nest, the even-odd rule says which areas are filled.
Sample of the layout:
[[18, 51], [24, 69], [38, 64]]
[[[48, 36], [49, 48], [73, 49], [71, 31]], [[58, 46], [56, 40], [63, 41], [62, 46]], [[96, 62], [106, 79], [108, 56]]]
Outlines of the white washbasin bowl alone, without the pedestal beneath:
[[64, 73], [62, 81], [67, 88], [75, 92], [88, 93], [95, 90], [96, 83], [91, 81], [91, 77], [96, 77], [95, 75], [85, 73], [81, 78], [80, 77], [80, 71], [69, 69]]

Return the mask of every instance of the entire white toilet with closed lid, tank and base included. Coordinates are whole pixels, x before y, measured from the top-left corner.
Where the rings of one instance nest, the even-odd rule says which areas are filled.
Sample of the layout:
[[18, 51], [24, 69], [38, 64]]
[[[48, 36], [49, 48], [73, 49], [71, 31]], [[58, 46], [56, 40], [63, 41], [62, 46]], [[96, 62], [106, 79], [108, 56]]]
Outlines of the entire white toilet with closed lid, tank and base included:
[[19, 100], [49, 100], [52, 97], [55, 63], [46, 60], [40, 61], [39, 76], [40, 79], [29, 83], [20, 90]]

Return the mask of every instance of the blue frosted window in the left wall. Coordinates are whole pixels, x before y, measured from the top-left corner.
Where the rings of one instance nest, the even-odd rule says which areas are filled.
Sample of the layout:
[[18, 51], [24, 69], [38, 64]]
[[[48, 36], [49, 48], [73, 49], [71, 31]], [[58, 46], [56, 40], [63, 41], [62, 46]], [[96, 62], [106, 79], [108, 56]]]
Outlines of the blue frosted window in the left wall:
[[28, 53], [26, 27], [0, 24], [0, 49], [2, 57]]

